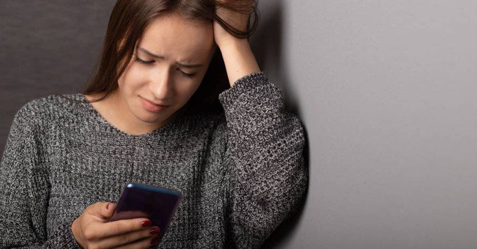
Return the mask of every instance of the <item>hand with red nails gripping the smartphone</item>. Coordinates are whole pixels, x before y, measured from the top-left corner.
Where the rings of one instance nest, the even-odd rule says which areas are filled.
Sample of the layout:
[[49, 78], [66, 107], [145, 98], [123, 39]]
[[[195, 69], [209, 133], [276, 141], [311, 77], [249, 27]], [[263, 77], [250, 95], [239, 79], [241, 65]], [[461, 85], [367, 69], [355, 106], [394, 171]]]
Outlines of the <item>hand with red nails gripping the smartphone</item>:
[[[81, 247], [149, 248], [158, 242], [157, 233], [160, 229], [151, 226], [147, 218], [108, 222], [115, 209], [116, 204], [113, 202], [96, 202], [89, 205], [83, 214], [73, 221], [71, 230]], [[155, 228], [157, 229], [154, 230]]]

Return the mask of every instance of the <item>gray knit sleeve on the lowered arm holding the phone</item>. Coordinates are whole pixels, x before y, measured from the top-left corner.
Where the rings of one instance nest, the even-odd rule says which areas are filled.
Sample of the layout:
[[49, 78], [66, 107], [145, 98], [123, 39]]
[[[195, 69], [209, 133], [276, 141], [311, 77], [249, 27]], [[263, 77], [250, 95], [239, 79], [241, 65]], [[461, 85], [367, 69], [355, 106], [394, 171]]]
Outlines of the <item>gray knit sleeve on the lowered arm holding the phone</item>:
[[79, 248], [71, 221], [47, 235], [49, 173], [41, 167], [36, 108], [14, 116], [0, 162], [0, 248]]

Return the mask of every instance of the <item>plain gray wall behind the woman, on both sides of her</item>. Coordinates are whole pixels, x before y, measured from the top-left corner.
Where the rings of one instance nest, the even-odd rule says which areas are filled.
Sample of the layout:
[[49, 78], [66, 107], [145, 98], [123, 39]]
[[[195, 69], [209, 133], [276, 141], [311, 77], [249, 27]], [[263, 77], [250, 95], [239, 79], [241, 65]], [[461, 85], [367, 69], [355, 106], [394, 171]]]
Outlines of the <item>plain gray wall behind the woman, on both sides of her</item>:
[[[0, 151], [22, 104], [81, 89], [114, 3], [1, 2]], [[267, 247], [475, 248], [477, 2], [259, 9], [252, 48], [303, 121], [310, 167]]]

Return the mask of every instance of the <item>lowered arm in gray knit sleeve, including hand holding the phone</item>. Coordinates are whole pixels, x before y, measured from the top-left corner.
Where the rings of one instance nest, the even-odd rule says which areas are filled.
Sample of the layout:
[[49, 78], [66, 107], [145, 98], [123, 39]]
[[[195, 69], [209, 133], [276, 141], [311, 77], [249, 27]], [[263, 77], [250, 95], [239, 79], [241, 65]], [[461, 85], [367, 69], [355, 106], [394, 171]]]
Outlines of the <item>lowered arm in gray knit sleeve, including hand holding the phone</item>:
[[147, 218], [107, 222], [114, 205], [108, 209], [106, 202], [89, 205], [47, 234], [50, 173], [39, 163], [41, 108], [35, 103], [15, 114], [0, 162], [0, 248], [148, 248], [158, 227], [144, 224]]

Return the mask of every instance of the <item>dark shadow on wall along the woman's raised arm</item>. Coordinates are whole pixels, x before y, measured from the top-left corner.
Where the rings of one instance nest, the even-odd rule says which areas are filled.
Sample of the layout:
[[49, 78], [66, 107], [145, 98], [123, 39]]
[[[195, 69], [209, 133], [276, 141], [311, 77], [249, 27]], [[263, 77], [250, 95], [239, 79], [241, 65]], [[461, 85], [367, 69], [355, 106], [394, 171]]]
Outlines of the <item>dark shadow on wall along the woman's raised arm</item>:
[[[284, 68], [284, 48], [282, 45], [282, 1], [276, 1], [273, 3], [273, 5], [266, 6], [266, 10], [266, 19], [261, 16], [262, 19], [260, 20], [257, 31], [254, 33], [254, 35], [252, 35], [250, 39], [251, 47], [262, 70], [263, 68], [272, 70], [274, 76], [276, 75], [278, 81], [282, 83], [280, 84], [280, 89], [282, 89], [286, 97], [284, 103], [285, 110], [299, 116], [299, 109], [296, 103], [292, 103], [290, 101], [290, 99], [296, 98], [289, 98], [292, 94], [289, 86], [290, 84], [293, 84], [293, 82], [291, 82], [288, 78], [288, 69]], [[306, 128], [304, 127], [303, 123], [302, 126], [305, 138], [305, 144], [303, 148], [305, 170], [309, 171], [308, 165], [310, 149], [308, 143], [308, 132], [306, 132]], [[306, 203], [308, 189], [306, 190], [304, 196], [305, 197], [302, 200], [297, 212], [291, 218], [283, 221], [280, 224], [280, 226], [264, 242], [262, 248], [280, 247], [280, 245], [282, 245], [282, 243], [285, 242], [287, 238], [294, 233], [296, 226], [301, 218], [303, 207]]]

